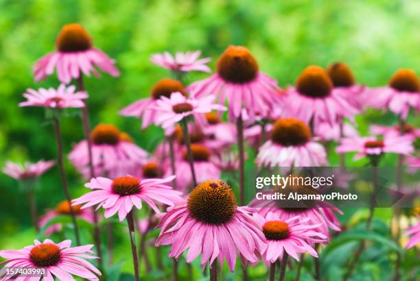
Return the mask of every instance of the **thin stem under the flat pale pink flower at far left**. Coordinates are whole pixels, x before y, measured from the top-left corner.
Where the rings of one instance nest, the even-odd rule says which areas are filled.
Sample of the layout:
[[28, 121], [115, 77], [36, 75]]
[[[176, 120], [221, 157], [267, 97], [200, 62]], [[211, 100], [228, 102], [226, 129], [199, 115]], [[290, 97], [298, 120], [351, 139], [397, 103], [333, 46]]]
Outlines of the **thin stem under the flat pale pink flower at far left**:
[[[62, 188], [65, 191], [67, 202], [69, 203], [69, 206], [71, 206], [71, 197], [69, 192], [69, 186], [67, 185], [67, 178], [66, 178], [66, 172], [64, 168], [64, 160], [63, 160], [63, 149], [62, 149], [62, 137], [61, 137], [61, 129], [60, 129], [60, 120], [58, 117], [53, 117], [54, 122], [54, 132], [56, 133], [56, 140], [57, 140], [57, 163], [58, 163], [58, 169], [60, 169], [60, 177], [62, 182]], [[73, 223], [74, 228], [74, 234], [76, 239], [76, 244], [80, 246], [80, 236], [79, 236], [79, 228], [78, 223], [75, 219], [75, 214], [73, 211], [73, 208], [70, 208], [70, 215], [71, 215], [71, 221]]]

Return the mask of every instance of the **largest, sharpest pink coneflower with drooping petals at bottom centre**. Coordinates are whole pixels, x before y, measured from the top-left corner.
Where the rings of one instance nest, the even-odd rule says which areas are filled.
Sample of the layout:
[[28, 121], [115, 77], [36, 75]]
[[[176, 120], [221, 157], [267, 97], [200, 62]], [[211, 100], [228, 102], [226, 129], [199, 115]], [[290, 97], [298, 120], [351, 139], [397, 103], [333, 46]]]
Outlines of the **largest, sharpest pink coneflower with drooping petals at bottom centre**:
[[245, 208], [236, 205], [230, 186], [221, 180], [198, 184], [187, 202], [167, 210], [158, 227], [156, 246], [172, 245], [171, 258], [187, 249], [187, 262], [201, 253], [201, 265], [214, 269], [216, 258], [235, 269], [239, 252], [242, 262], [257, 262], [256, 251], [264, 247], [264, 234]]

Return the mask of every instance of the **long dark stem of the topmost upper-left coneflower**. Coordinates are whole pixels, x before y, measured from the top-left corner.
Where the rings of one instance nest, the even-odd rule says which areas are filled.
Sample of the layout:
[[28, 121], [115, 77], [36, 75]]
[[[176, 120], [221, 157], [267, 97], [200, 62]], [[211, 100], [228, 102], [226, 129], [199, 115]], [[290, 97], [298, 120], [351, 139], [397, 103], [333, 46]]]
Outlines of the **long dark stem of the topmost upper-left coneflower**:
[[[78, 77], [78, 88], [80, 91], [84, 91], [84, 82], [83, 82], [83, 75]], [[86, 101], [84, 100], [84, 107], [82, 108], [82, 125], [83, 125], [83, 132], [84, 138], [86, 139], [87, 146], [88, 146], [88, 159], [89, 159], [89, 173], [91, 178], [95, 178], [95, 167], [93, 167], [93, 156], [92, 156], [92, 140], [91, 140], [91, 127], [89, 125], [89, 110]], [[95, 208], [92, 207], [93, 212], [93, 239], [95, 240], [95, 245], [97, 249], [97, 256], [99, 257], [99, 264], [102, 267], [102, 250], [101, 250], [101, 235], [100, 235], [100, 227], [98, 224], [98, 217], [97, 212], [95, 212]]]

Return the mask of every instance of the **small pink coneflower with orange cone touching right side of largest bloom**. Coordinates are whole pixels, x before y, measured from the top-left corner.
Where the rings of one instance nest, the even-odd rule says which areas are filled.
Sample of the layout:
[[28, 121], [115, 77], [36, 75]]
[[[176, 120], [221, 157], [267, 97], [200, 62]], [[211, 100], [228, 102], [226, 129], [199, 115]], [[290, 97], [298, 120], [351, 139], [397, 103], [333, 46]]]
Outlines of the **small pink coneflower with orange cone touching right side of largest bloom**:
[[269, 212], [265, 218], [257, 213], [253, 217], [266, 236], [266, 247], [260, 252], [266, 264], [281, 260], [284, 253], [296, 260], [299, 260], [298, 253], [308, 253], [318, 258], [311, 245], [327, 239], [323, 233], [316, 231], [320, 223], [309, 224], [309, 217], [296, 216], [283, 220], [273, 212]]

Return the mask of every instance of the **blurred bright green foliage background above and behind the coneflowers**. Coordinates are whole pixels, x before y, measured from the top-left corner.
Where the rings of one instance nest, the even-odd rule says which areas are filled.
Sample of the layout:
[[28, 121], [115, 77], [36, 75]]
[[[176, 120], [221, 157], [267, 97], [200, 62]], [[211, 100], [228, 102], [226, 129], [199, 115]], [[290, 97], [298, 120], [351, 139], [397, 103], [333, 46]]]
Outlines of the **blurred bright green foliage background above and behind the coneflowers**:
[[[86, 80], [91, 124], [113, 123], [151, 150], [161, 137], [158, 131], [141, 132], [139, 121], [120, 117], [117, 111], [148, 96], [152, 85], [167, 75], [150, 63], [152, 53], [201, 49], [213, 59], [213, 67], [227, 45], [244, 45], [281, 86], [294, 83], [308, 64], [336, 61], [347, 62], [361, 84], [379, 86], [400, 67], [420, 73], [419, 14], [420, 2], [415, 0], [0, 0], [0, 165], [55, 158], [53, 128], [44, 110], [17, 104], [26, 88], [58, 86], [55, 75], [35, 84], [31, 69], [54, 50], [66, 23], [81, 23], [95, 47], [115, 58], [121, 70], [117, 78]], [[203, 77], [193, 73], [188, 80]], [[382, 119], [377, 113], [372, 118]], [[62, 130], [69, 151], [82, 139], [77, 112], [63, 120]], [[67, 170], [73, 196], [80, 195], [82, 182], [69, 163]], [[57, 179], [54, 167], [40, 180], [40, 210], [64, 198]], [[32, 241], [26, 202], [16, 181], [0, 174], [0, 249]]]

